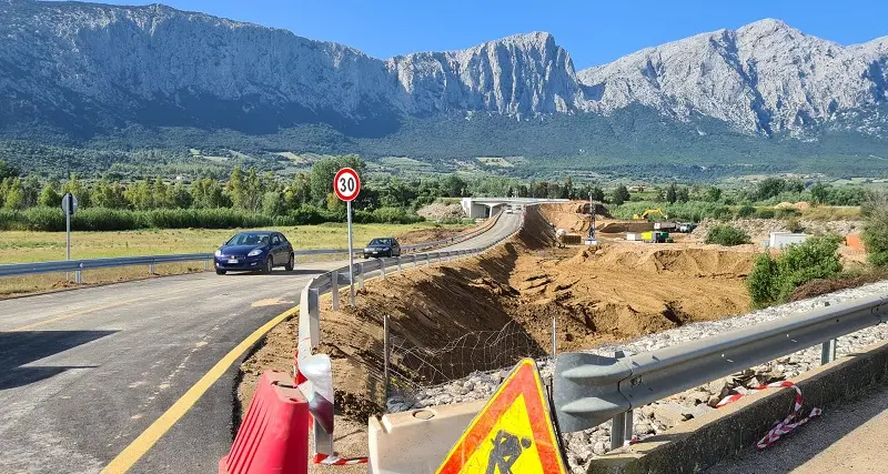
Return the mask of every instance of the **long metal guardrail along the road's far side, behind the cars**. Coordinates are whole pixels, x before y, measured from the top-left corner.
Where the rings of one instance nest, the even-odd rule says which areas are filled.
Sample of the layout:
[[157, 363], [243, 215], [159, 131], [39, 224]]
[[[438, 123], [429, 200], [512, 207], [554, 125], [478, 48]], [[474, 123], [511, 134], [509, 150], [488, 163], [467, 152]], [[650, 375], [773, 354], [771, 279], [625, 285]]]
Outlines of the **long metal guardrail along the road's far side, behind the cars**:
[[[413, 245], [404, 245], [403, 251], [417, 252], [426, 249], [434, 249], [446, 244], [462, 242], [472, 239], [483, 232], [495, 222], [495, 219], [490, 219], [484, 225], [472, 230], [471, 232], [456, 235], [452, 239], [443, 239], [434, 242], [424, 242]], [[361, 250], [355, 251], [356, 255], [362, 253]], [[294, 250], [293, 255], [302, 256], [309, 255], [312, 259], [315, 255], [332, 255], [332, 254], [349, 254], [349, 249], [307, 249]], [[212, 253], [179, 253], [168, 255], [139, 255], [139, 256], [121, 256], [111, 259], [89, 259], [89, 260], [61, 260], [53, 262], [33, 262], [33, 263], [12, 263], [0, 265], [0, 278], [3, 276], [24, 276], [40, 273], [74, 273], [74, 281], [81, 282], [80, 272], [83, 270], [95, 269], [110, 269], [115, 266], [138, 266], [147, 265], [149, 273], [154, 273], [154, 265], [159, 263], [176, 263], [176, 262], [204, 262], [204, 270], [210, 270], [210, 261], [212, 261]]]

